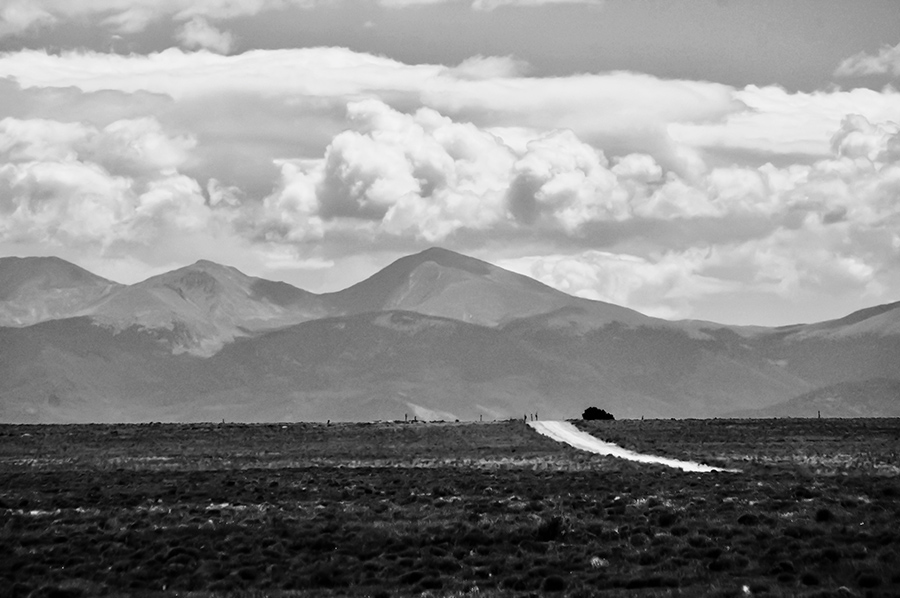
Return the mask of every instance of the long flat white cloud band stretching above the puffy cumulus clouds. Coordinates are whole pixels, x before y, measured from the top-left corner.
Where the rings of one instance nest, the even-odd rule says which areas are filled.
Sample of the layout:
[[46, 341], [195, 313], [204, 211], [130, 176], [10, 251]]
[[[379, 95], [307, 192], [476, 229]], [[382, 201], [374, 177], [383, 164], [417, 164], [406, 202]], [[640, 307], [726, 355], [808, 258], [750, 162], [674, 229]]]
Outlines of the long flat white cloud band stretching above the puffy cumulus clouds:
[[608, 155], [651, 154], [684, 175], [699, 172], [702, 163], [689, 144], [673, 142], [670, 125], [715, 122], [745, 109], [734, 89], [715, 83], [624, 72], [513, 76], [521, 68], [502, 57], [475, 58], [456, 68], [407, 65], [342, 48], [236, 56], [178, 49], [148, 56], [35, 51], [0, 56], [0, 76], [15, 77], [25, 88], [144, 91], [177, 102], [215, 98], [217, 104], [226, 96], [241, 102], [252, 96], [257, 103], [278, 99], [301, 107], [381, 97], [407, 107], [427, 106], [483, 128], [571, 129]]

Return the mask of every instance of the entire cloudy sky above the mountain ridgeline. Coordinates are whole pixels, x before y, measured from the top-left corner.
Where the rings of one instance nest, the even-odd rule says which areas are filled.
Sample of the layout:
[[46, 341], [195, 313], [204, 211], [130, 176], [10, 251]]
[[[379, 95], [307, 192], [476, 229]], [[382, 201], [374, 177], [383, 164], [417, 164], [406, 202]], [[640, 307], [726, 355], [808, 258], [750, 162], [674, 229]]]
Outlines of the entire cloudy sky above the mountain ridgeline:
[[0, 257], [441, 246], [669, 319], [900, 301], [896, 0], [0, 0]]

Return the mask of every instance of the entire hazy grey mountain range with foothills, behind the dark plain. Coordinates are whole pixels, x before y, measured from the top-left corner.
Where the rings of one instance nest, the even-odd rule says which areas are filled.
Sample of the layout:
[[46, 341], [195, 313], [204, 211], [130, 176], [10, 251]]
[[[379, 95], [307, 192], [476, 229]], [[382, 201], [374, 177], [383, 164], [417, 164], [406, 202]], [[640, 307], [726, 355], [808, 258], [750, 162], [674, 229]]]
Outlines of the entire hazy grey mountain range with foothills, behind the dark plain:
[[900, 302], [652, 318], [439, 248], [336, 293], [200, 261], [133, 285], [0, 259], [0, 421], [900, 416]]

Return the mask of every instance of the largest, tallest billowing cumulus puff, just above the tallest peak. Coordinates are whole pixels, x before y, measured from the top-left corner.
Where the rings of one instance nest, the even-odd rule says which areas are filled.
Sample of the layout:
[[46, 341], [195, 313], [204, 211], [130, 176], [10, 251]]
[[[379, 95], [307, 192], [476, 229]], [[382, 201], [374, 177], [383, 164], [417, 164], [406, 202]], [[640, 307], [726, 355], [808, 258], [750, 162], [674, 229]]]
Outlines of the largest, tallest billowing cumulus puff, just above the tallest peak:
[[280, 228], [288, 239], [320, 236], [323, 228], [355, 223], [436, 241], [504, 218], [514, 155], [490, 133], [376, 100], [350, 104], [348, 120], [352, 128], [322, 159], [283, 164], [281, 188], [265, 202], [269, 234]]

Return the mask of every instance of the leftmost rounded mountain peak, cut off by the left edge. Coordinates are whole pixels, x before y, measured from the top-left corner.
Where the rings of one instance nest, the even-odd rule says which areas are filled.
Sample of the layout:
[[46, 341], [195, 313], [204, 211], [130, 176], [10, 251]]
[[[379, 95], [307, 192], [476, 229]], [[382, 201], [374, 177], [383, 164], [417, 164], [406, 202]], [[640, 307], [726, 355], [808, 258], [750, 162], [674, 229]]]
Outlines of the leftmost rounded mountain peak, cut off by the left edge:
[[78, 315], [119, 288], [56, 257], [0, 258], [0, 326]]

